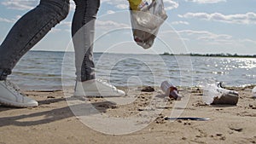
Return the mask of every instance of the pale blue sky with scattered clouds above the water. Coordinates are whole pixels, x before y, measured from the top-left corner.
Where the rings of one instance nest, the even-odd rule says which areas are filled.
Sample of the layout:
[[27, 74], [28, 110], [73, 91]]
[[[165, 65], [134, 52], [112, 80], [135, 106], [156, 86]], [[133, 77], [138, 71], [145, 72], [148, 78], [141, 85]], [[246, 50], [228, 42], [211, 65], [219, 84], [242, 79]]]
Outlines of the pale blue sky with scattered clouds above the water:
[[[52, 28], [32, 50], [72, 51], [71, 0], [65, 20]], [[97, 14], [95, 52], [132, 54], [256, 55], [255, 0], [163, 0], [168, 18], [153, 46], [143, 49], [133, 41], [127, 0], [102, 0]], [[23, 14], [39, 0], [0, 1], [0, 43]]]

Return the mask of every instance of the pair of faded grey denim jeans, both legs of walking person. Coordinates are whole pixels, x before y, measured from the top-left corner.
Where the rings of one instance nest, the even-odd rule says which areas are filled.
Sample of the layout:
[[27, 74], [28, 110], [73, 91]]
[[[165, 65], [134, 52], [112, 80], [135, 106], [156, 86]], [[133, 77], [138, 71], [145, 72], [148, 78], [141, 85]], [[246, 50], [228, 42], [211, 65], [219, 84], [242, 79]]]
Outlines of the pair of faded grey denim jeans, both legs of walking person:
[[[76, 3], [72, 22], [73, 45], [77, 80], [95, 78], [93, 40], [96, 14], [100, 0], [74, 0]], [[38, 43], [52, 27], [67, 17], [69, 0], [41, 0], [9, 31], [0, 46], [0, 80], [5, 80], [20, 58]]]

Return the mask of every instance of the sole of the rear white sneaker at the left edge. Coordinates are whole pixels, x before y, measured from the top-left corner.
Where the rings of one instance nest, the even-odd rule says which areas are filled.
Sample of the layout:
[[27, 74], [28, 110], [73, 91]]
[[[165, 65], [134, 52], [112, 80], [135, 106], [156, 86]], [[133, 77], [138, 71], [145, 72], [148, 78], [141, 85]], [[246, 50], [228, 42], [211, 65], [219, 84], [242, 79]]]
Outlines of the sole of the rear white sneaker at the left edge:
[[30, 103], [30, 104], [24, 104], [19, 102], [13, 102], [13, 101], [6, 101], [4, 99], [1, 99], [0, 97], [0, 104], [6, 107], [18, 107], [18, 108], [26, 108], [26, 107], [38, 107], [38, 103]]

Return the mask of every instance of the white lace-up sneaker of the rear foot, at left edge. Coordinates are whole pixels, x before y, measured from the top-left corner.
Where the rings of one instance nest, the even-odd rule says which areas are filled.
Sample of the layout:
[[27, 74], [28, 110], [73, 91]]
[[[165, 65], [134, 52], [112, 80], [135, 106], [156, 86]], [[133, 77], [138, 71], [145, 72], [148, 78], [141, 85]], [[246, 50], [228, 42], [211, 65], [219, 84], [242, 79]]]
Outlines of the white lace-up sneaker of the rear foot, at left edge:
[[0, 104], [8, 107], [38, 107], [38, 101], [22, 94], [17, 85], [7, 80], [0, 81]]

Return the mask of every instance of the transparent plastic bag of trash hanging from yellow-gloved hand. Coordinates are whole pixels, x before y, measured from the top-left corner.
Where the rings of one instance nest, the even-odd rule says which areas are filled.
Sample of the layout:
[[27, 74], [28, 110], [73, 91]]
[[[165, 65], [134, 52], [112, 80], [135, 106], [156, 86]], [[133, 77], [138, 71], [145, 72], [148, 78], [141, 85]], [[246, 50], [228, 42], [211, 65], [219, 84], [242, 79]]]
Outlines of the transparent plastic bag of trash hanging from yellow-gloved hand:
[[150, 48], [167, 19], [162, 0], [129, 0], [134, 41], [144, 49]]

